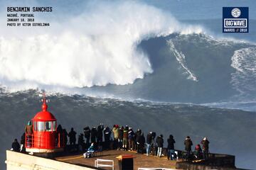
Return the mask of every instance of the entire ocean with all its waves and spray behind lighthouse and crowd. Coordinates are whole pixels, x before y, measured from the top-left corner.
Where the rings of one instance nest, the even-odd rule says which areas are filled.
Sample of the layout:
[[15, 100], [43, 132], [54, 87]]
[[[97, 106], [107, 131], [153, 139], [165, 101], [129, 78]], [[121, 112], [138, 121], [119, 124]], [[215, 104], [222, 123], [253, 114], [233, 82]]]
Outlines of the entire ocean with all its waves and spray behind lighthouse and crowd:
[[[1, 169], [41, 108], [68, 130], [132, 125], [210, 139], [255, 169], [253, 1], [0, 1]], [[53, 6], [50, 28], [6, 28], [6, 6]], [[222, 33], [222, 7], [249, 6], [250, 33]], [[6, 121], [8, 120], [8, 121]], [[15, 126], [14, 126], [15, 125]], [[10, 135], [12, 134], [12, 135]]]

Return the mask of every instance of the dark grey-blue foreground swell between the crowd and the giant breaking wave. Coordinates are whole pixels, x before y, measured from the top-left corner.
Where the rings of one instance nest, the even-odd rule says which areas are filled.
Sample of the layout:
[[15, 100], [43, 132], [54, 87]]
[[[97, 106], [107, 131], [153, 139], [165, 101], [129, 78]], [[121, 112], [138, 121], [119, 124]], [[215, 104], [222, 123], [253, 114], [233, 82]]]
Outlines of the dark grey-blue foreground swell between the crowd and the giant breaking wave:
[[[1, 132], [1, 160], [14, 137], [20, 140], [27, 121], [41, 111], [38, 94], [40, 91], [34, 90], [1, 93], [0, 118], [4, 120], [1, 127], [8, 128]], [[129, 125], [134, 130], [141, 129], [144, 135], [149, 131], [164, 135], [165, 147], [169, 135], [174, 135], [176, 149], [184, 149], [183, 141], [187, 135], [194, 146], [207, 136], [210, 152], [233, 154], [236, 166], [255, 169], [255, 112], [80, 95], [55, 94], [48, 98], [48, 111], [68, 131], [74, 128], [80, 134], [87, 125], [92, 127], [100, 123], [110, 128], [114, 124]]]

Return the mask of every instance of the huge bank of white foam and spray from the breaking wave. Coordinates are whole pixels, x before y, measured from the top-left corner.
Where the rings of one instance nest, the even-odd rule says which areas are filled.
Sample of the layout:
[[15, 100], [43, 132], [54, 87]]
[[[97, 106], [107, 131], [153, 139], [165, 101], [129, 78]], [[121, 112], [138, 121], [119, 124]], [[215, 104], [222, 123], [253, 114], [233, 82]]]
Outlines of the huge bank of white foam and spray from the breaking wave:
[[[6, 28], [0, 30], [6, 33]], [[148, 57], [136, 50], [141, 40], [203, 31], [137, 2], [99, 3], [62, 23], [52, 21], [43, 33], [35, 30], [31, 35], [24, 30], [18, 38], [0, 35], [2, 85], [34, 89], [132, 84], [153, 72]]]

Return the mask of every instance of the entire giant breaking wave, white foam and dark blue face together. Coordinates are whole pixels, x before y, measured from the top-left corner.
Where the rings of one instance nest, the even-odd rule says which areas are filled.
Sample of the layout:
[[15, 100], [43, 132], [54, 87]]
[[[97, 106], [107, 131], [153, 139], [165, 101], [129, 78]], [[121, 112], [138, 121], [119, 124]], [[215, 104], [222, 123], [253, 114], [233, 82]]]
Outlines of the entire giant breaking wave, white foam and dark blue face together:
[[51, 25], [1, 35], [1, 86], [124, 100], [256, 100], [255, 44], [215, 38], [159, 8], [102, 2]]

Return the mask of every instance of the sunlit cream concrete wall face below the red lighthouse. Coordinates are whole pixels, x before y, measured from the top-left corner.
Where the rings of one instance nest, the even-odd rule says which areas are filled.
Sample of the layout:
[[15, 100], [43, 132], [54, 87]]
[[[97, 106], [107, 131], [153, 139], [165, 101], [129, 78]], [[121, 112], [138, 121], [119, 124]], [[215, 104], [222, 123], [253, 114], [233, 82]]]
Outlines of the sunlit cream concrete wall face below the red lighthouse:
[[74, 164], [68, 164], [65, 162], [58, 162], [53, 159], [46, 159], [42, 157], [35, 157], [28, 154], [22, 154], [20, 152], [13, 152], [6, 150], [6, 165], [7, 170], [90, 170], [85, 166], [78, 166]]

